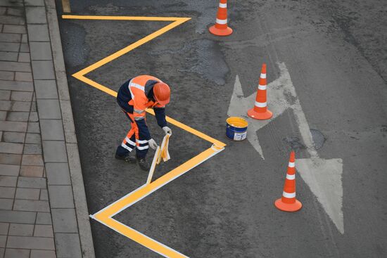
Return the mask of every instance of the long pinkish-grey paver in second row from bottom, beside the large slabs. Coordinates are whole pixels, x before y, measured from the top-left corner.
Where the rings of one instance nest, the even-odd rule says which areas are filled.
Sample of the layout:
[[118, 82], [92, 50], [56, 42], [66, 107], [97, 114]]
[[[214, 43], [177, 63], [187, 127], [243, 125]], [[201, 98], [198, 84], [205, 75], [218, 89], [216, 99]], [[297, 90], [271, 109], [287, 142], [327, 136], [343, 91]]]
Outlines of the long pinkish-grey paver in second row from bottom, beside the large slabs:
[[34, 236], [8, 236], [7, 248], [55, 250], [53, 238]]

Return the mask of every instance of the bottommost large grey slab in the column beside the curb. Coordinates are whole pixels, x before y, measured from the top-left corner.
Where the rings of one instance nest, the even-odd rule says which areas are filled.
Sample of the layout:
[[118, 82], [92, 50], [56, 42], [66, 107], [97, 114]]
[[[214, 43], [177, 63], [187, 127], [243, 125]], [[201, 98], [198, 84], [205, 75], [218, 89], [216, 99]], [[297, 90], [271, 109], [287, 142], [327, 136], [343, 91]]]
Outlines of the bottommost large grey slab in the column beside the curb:
[[58, 258], [82, 258], [80, 237], [77, 233], [55, 233]]

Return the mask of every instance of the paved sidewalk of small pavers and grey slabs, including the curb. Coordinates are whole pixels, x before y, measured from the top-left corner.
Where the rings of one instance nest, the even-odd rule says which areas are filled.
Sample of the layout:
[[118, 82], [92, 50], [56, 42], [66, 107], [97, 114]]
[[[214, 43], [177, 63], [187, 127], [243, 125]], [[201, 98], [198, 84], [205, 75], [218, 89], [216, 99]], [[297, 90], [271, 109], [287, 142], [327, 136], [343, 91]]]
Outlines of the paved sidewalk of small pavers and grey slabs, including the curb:
[[0, 32], [0, 258], [94, 257], [54, 1], [0, 0]]

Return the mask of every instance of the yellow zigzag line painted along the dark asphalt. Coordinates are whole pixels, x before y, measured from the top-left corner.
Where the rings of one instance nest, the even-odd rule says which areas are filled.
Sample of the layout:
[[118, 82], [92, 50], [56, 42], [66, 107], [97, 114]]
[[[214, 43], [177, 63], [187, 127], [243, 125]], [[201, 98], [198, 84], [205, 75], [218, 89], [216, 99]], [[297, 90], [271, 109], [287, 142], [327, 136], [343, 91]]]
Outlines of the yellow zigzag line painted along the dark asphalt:
[[[160, 30], [157, 30], [156, 32], [153, 32], [152, 34], [149, 34], [148, 36], [140, 39], [139, 41], [134, 42], [133, 44], [130, 44], [129, 46], [125, 47], [124, 49], [121, 49], [120, 51], [117, 51], [110, 56], [107, 56], [106, 58], [103, 58], [102, 60], [99, 60], [98, 62], [94, 63], [93, 65], [90, 65], [79, 72], [76, 72], [73, 77], [80, 79], [80, 81], [89, 84], [91, 86], [94, 86], [96, 89], [99, 89], [101, 91], [104, 91], [111, 96], [116, 97], [117, 92], [113, 91], [112, 89], [109, 89], [106, 86], [103, 86], [102, 84], [99, 84], [98, 82], [94, 82], [93, 80], [85, 77], [87, 73], [96, 70], [98, 67], [101, 67], [102, 65], [106, 65], [106, 63], [111, 62], [112, 60], [115, 60], [116, 58], [119, 58], [120, 56], [124, 55], [125, 53], [128, 53], [129, 51], [132, 51], [133, 49], [136, 49], [137, 47], [141, 46], [142, 44], [145, 44], [148, 41], [151, 41], [152, 39], [155, 39], [156, 37], [160, 36], [161, 34], [164, 34], [165, 32], [172, 30], [174, 27], [177, 27], [181, 25], [182, 23], [186, 22], [187, 20], [190, 20], [191, 18], [178, 18], [178, 17], [139, 17], [139, 16], [94, 16], [94, 15], [62, 15], [63, 19], [77, 19], [77, 20], [153, 20], [153, 21], [172, 21], [169, 25], [161, 28]], [[153, 110], [147, 110], [147, 112], [154, 115]], [[148, 236], [145, 236], [143, 233], [140, 233], [133, 228], [130, 228], [129, 226], [126, 226], [119, 221], [116, 221], [112, 217], [116, 214], [122, 212], [122, 210], [126, 209], [127, 207], [130, 207], [131, 205], [134, 205], [134, 203], [138, 202], [139, 200], [145, 198], [146, 196], [150, 195], [154, 191], [158, 190], [159, 188], [165, 186], [167, 183], [170, 183], [171, 181], [177, 179], [177, 177], [182, 176], [182, 174], [189, 172], [189, 170], [193, 169], [194, 167], [200, 165], [202, 162], [205, 162], [205, 160], [208, 160], [210, 157], [216, 155], [217, 153], [220, 153], [220, 151], [224, 150], [224, 147], [226, 144], [222, 143], [221, 141], [217, 141], [215, 138], [212, 138], [206, 134], [203, 134], [201, 131], [198, 131], [196, 129], [193, 129], [186, 124], [182, 124], [181, 122], [178, 122], [177, 120], [172, 119], [171, 117], [167, 117], [167, 122], [170, 122], [170, 124], [174, 124], [177, 127], [180, 127], [181, 129], [185, 131], [189, 131], [191, 134], [194, 134], [200, 138], [203, 138], [206, 141], [209, 141], [212, 143], [212, 146], [208, 148], [207, 150], [204, 150], [202, 153], [196, 155], [195, 157], [191, 158], [191, 160], [188, 160], [184, 162], [182, 165], [179, 165], [179, 167], [173, 169], [172, 171], [168, 172], [164, 176], [161, 176], [156, 181], [153, 181], [149, 184], [144, 184], [143, 186], [140, 186], [136, 190], [134, 190], [132, 193], [128, 193], [124, 197], [122, 197], [120, 200], [117, 200], [113, 202], [112, 204], [108, 205], [108, 207], [105, 207], [101, 209], [99, 212], [96, 212], [96, 214], [91, 215], [90, 217], [93, 219], [96, 219], [96, 221], [101, 222], [101, 224], [104, 224], [105, 226], [108, 226], [109, 228], [112, 228], [114, 231], [117, 231], [118, 233], [127, 236], [127, 238], [130, 238], [137, 243], [144, 245], [145, 247], [148, 247], [149, 249], [153, 250], [154, 252], [157, 252], [158, 254], [163, 255], [164, 257], [186, 257], [184, 254], [181, 254], [175, 250], [173, 250], [170, 247], [167, 247], [166, 245], [163, 245], [162, 243], [159, 243], [156, 240], [153, 240], [152, 238], [148, 238]]]

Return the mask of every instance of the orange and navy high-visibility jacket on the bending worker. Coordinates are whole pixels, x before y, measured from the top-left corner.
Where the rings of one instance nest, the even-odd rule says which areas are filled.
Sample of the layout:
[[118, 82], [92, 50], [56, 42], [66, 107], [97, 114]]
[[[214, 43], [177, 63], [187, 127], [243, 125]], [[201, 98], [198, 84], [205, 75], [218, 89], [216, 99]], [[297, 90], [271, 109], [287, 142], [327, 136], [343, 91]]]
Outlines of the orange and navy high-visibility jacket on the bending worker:
[[165, 106], [158, 104], [153, 97], [153, 86], [158, 82], [161, 80], [151, 75], [139, 75], [122, 84], [118, 91], [118, 103], [126, 112], [133, 114], [139, 134], [146, 140], [151, 138], [145, 120], [146, 108], [153, 108], [160, 127], [167, 126]]

